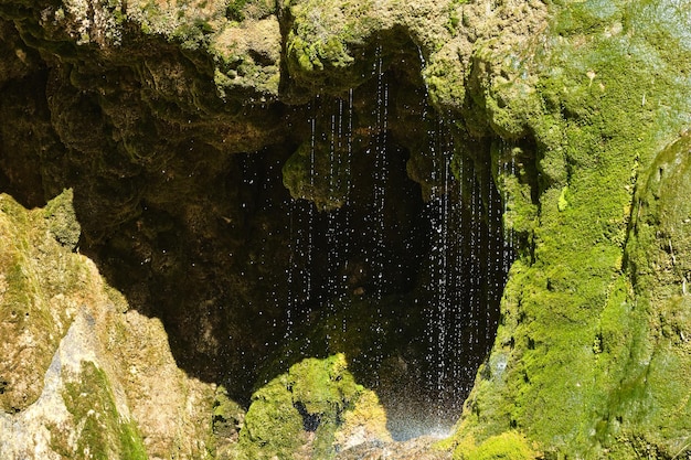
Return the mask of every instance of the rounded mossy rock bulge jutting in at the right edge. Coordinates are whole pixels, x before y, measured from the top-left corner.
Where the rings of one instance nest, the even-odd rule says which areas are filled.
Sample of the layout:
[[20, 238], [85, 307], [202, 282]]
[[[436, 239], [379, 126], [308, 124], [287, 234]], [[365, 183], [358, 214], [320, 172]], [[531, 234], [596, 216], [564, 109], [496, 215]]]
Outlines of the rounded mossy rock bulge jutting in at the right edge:
[[[628, 330], [610, 330], [603, 346], [629, 344], [620, 356], [621, 382], [613, 391], [603, 436], [614, 454], [679, 457], [688, 449], [691, 427], [689, 368], [689, 151], [688, 136], [662, 149], [636, 194], [627, 260], [637, 303], [629, 307]], [[615, 329], [618, 330], [619, 328]]]

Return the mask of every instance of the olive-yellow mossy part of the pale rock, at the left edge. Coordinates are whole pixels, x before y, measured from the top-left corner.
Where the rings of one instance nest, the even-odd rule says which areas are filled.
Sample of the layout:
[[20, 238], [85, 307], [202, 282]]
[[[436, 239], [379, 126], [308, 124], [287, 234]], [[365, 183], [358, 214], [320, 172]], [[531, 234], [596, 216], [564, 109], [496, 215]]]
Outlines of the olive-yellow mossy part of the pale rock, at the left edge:
[[[59, 200], [65, 201], [62, 211], [68, 215], [70, 197]], [[70, 328], [88, 278], [83, 261], [50, 236], [51, 223], [60, 226], [55, 220], [43, 218], [40, 210], [29, 212], [0, 195], [0, 347], [4, 356], [0, 402], [6, 413], [23, 410], [41, 395], [43, 374]]]

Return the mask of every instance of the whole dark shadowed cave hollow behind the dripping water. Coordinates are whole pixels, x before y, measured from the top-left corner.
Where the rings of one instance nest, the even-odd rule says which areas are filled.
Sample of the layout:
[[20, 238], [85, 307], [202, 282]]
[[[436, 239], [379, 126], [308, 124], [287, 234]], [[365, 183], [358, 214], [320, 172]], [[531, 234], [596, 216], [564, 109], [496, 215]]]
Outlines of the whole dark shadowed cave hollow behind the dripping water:
[[[55, 161], [4, 156], [3, 191], [31, 206], [38, 190], [73, 188], [79, 252], [162, 320], [182, 370], [245, 406], [290, 365], [342, 352], [394, 437], [448, 430], [492, 345], [513, 256], [490, 142], [469, 142], [429, 105], [421, 68], [407, 42], [357, 88], [247, 106], [277, 136], [230, 154], [203, 128], [172, 136], [179, 128], [157, 119], [113, 132], [155, 107], [109, 106], [72, 86], [46, 107], [56, 74], [81, 71], [41, 71], [23, 95], [39, 117], [86, 124], [59, 132], [70, 139], [54, 141], [56, 157], [73, 157], [55, 178]], [[132, 145], [145, 140], [128, 136], [163, 146], [146, 143], [143, 157]]]

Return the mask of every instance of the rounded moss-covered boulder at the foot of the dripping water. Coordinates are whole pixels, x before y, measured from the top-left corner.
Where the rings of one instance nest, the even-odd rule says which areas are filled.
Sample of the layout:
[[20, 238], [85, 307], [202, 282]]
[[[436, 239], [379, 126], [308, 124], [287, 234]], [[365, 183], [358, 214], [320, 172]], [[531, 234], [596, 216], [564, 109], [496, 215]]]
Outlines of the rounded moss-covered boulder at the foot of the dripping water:
[[[363, 405], [380, 415], [363, 417]], [[376, 397], [372, 400], [348, 371], [343, 354], [302, 360], [253, 395], [241, 431], [240, 458], [289, 459], [306, 450], [312, 458], [332, 458], [334, 443], [344, 436], [339, 435], [342, 426], [346, 432], [357, 427], [376, 431], [382, 421], [378, 408]]]

